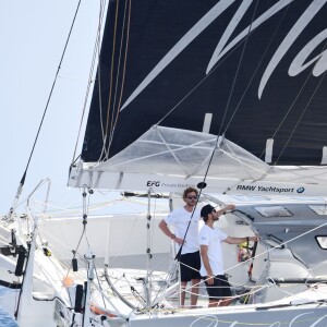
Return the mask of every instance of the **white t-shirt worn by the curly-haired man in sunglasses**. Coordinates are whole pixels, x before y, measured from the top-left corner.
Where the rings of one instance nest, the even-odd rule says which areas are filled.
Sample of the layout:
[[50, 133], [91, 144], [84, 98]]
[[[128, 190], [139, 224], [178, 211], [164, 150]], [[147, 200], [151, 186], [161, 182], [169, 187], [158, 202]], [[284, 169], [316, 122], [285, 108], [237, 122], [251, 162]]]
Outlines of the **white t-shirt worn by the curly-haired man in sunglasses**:
[[[183, 244], [182, 254], [193, 253], [198, 251], [198, 219], [199, 209], [194, 211], [192, 217], [190, 228], [185, 238], [185, 243]], [[173, 232], [177, 238], [183, 239], [191, 219], [192, 213], [185, 210], [184, 207], [172, 210], [166, 218], [167, 225], [173, 227]], [[175, 243], [177, 251], [179, 251], [180, 245]]]

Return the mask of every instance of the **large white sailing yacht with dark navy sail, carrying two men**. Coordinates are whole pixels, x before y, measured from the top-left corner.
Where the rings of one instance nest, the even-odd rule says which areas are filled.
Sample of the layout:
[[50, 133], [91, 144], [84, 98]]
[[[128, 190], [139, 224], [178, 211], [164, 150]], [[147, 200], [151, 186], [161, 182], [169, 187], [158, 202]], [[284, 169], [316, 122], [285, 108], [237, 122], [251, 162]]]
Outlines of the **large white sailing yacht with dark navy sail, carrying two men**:
[[[36, 211], [32, 193], [2, 219], [3, 305], [20, 326], [326, 326], [326, 2], [109, 1], [68, 181], [82, 214]], [[235, 204], [227, 234], [261, 238], [223, 247], [228, 307], [207, 307], [205, 288], [179, 307], [157, 225], [189, 186], [198, 206]], [[90, 217], [104, 190], [143, 214]]]

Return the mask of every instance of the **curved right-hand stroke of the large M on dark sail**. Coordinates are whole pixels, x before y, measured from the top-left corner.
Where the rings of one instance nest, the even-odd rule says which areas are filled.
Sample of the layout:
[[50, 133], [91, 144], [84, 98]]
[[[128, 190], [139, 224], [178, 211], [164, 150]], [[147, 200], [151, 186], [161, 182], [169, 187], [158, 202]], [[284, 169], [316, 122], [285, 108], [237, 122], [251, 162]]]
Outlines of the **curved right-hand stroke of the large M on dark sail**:
[[307, 7], [302, 16], [298, 20], [291, 31], [288, 33], [283, 41], [278, 47], [277, 51], [272, 56], [270, 62], [268, 63], [266, 71], [263, 75], [259, 88], [258, 88], [258, 97], [262, 97], [263, 90], [275, 71], [276, 66], [283, 58], [286, 52], [289, 50], [291, 45], [295, 41], [299, 35], [302, 33], [304, 27], [311, 22], [311, 20], [316, 15], [316, 13], [322, 9], [322, 7], [326, 3], [327, 0], [314, 0], [311, 5]]

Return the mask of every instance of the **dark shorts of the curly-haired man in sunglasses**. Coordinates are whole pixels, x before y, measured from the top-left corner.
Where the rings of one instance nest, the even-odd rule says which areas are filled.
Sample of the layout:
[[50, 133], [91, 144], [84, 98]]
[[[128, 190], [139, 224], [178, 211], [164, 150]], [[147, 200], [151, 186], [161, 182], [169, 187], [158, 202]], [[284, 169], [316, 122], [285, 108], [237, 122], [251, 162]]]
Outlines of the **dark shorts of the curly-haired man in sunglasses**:
[[180, 257], [181, 281], [201, 279], [199, 267], [199, 251], [182, 254]]

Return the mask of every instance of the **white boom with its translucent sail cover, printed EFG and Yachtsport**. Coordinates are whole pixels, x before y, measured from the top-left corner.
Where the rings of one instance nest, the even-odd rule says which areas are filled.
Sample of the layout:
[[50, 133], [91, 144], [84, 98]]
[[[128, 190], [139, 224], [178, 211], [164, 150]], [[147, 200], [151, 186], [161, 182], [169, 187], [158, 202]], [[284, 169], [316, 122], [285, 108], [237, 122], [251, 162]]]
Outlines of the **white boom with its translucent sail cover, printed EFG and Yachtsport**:
[[[325, 167], [271, 167], [216, 135], [155, 125], [105, 162], [71, 171], [71, 186], [178, 191], [205, 182], [208, 192], [323, 194]], [[310, 191], [314, 186], [314, 193]]]

